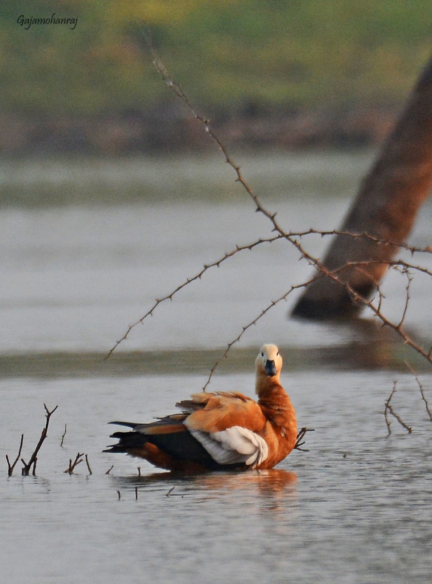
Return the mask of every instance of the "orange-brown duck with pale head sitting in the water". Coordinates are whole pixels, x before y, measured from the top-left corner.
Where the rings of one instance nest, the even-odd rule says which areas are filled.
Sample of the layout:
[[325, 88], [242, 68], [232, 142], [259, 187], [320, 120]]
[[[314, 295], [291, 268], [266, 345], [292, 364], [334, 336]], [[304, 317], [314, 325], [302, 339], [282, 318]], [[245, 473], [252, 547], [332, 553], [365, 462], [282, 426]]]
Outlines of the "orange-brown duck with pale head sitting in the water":
[[127, 432], [104, 452], [144, 458], [173, 472], [269, 469], [294, 449], [297, 419], [280, 383], [282, 357], [263, 345], [255, 360], [257, 401], [237, 391], [192, 394], [176, 404], [180, 413], [150, 423], [110, 422]]

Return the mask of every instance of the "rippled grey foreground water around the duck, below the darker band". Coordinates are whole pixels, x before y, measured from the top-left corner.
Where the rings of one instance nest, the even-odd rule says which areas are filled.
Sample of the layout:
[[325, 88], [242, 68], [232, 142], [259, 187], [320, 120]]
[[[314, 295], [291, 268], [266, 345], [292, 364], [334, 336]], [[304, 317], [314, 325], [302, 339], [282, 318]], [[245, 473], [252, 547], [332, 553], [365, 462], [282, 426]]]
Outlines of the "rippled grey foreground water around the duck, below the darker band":
[[[19, 468], [11, 478], [2, 473], [4, 578], [428, 582], [431, 422], [412, 376], [399, 376], [394, 405], [413, 433], [393, 422], [386, 439], [382, 412], [392, 377], [325, 373], [318, 383], [313, 373], [285, 374], [299, 423], [315, 429], [306, 434], [309, 451], [294, 451], [272, 471], [186, 478], [101, 450], [110, 442], [107, 420], [171, 412], [200, 378], [4, 383], [2, 457], [15, 456], [24, 432], [28, 460], [44, 424], [42, 402], [59, 404], [37, 477], [21, 477]], [[231, 374], [214, 389], [250, 394], [252, 384], [252, 374]], [[64, 474], [78, 452], [88, 454], [92, 475], [85, 463]]]

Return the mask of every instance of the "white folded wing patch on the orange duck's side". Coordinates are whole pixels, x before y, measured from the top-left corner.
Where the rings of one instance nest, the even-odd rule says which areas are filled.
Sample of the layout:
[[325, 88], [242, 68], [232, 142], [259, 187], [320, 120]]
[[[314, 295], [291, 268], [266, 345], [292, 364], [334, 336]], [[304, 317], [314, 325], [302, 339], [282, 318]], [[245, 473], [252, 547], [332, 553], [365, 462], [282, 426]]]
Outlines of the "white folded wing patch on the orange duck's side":
[[269, 454], [266, 441], [242, 426], [232, 426], [212, 434], [194, 430], [191, 434], [219, 464], [243, 463], [255, 467]]

